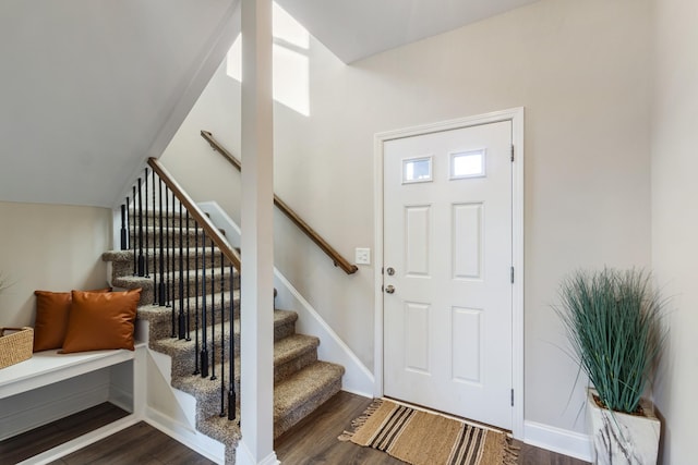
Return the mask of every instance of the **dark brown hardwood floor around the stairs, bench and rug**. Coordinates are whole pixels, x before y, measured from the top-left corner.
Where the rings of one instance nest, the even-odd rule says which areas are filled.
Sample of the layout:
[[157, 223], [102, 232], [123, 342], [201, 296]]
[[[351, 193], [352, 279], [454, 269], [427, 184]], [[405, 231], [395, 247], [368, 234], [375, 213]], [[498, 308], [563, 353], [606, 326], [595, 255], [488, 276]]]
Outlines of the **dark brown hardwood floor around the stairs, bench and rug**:
[[[285, 465], [396, 465], [404, 462], [373, 449], [337, 437], [349, 429], [351, 420], [363, 413], [370, 399], [340, 392], [274, 443], [277, 457]], [[112, 421], [125, 412], [101, 404], [50, 425], [0, 442], [0, 464], [14, 464], [46, 451], [85, 431]], [[520, 465], [583, 465], [586, 462], [526, 444]], [[188, 449], [145, 423], [139, 423], [109, 438], [74, 452], [53, 464], [171, 464], [208, 465], [213, 462]]]

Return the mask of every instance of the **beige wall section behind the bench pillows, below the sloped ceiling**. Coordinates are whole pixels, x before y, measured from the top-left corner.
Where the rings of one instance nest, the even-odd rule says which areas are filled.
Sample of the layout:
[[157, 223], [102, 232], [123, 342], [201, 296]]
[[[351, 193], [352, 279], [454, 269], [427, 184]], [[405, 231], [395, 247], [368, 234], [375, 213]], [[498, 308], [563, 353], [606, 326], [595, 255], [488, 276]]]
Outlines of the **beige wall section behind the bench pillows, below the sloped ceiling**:
[[0, 201], [0, 326], [31, 326], [35, 290], [64, 292], [107, 283], [111, 209]]

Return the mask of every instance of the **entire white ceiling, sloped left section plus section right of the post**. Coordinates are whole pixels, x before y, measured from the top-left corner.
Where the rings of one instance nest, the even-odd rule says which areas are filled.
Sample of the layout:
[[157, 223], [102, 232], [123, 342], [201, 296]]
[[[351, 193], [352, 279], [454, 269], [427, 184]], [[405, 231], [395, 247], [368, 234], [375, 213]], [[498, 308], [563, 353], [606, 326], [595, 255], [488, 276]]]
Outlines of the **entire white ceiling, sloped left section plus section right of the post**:
[[[2, 0], [0, 200], [111, 207], [239, 32], [240, 0]], [[277, 0], [349, 63], [534, 0]]]

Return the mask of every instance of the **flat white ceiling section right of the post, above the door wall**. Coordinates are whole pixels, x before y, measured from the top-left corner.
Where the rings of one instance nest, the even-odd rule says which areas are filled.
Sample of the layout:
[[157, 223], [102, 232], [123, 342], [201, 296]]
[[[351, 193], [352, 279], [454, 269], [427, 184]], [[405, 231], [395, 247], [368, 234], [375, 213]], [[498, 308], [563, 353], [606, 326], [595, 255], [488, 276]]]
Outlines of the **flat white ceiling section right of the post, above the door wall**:
[[276, 0], [345, 63], [538, 0]]

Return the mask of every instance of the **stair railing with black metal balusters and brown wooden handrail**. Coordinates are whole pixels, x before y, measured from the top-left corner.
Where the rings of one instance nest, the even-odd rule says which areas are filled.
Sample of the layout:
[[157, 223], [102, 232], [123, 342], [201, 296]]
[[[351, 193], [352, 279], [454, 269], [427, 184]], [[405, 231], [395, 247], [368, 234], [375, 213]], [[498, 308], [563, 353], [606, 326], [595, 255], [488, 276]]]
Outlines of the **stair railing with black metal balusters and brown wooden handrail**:
[[233, 420], [240, 255], [157, 159], [147, 164], [121, 206], [121, 249], [133, 254], [133, 276], [153, 279], [153, 305], [169, 307], [171, 336], [189, 342], [194, 334], [192, 375], [220, 382], [219, 415]]

